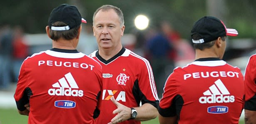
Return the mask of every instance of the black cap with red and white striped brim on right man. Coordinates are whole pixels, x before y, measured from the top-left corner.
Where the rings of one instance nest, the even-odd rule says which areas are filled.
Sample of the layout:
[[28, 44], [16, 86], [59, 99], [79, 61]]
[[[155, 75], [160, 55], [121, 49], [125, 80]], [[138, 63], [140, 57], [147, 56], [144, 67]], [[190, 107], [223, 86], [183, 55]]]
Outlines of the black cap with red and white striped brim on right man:
[[202, 17], [194, 23], [191, 30], [191, 36], [197, 34], [202, 38], [199, 40], [192, 39], [193, 43], [206, 43], [216, 40], [223, 36], [237, 36], [236, 29], [227, 29], [224, 23], [216, 17]]

